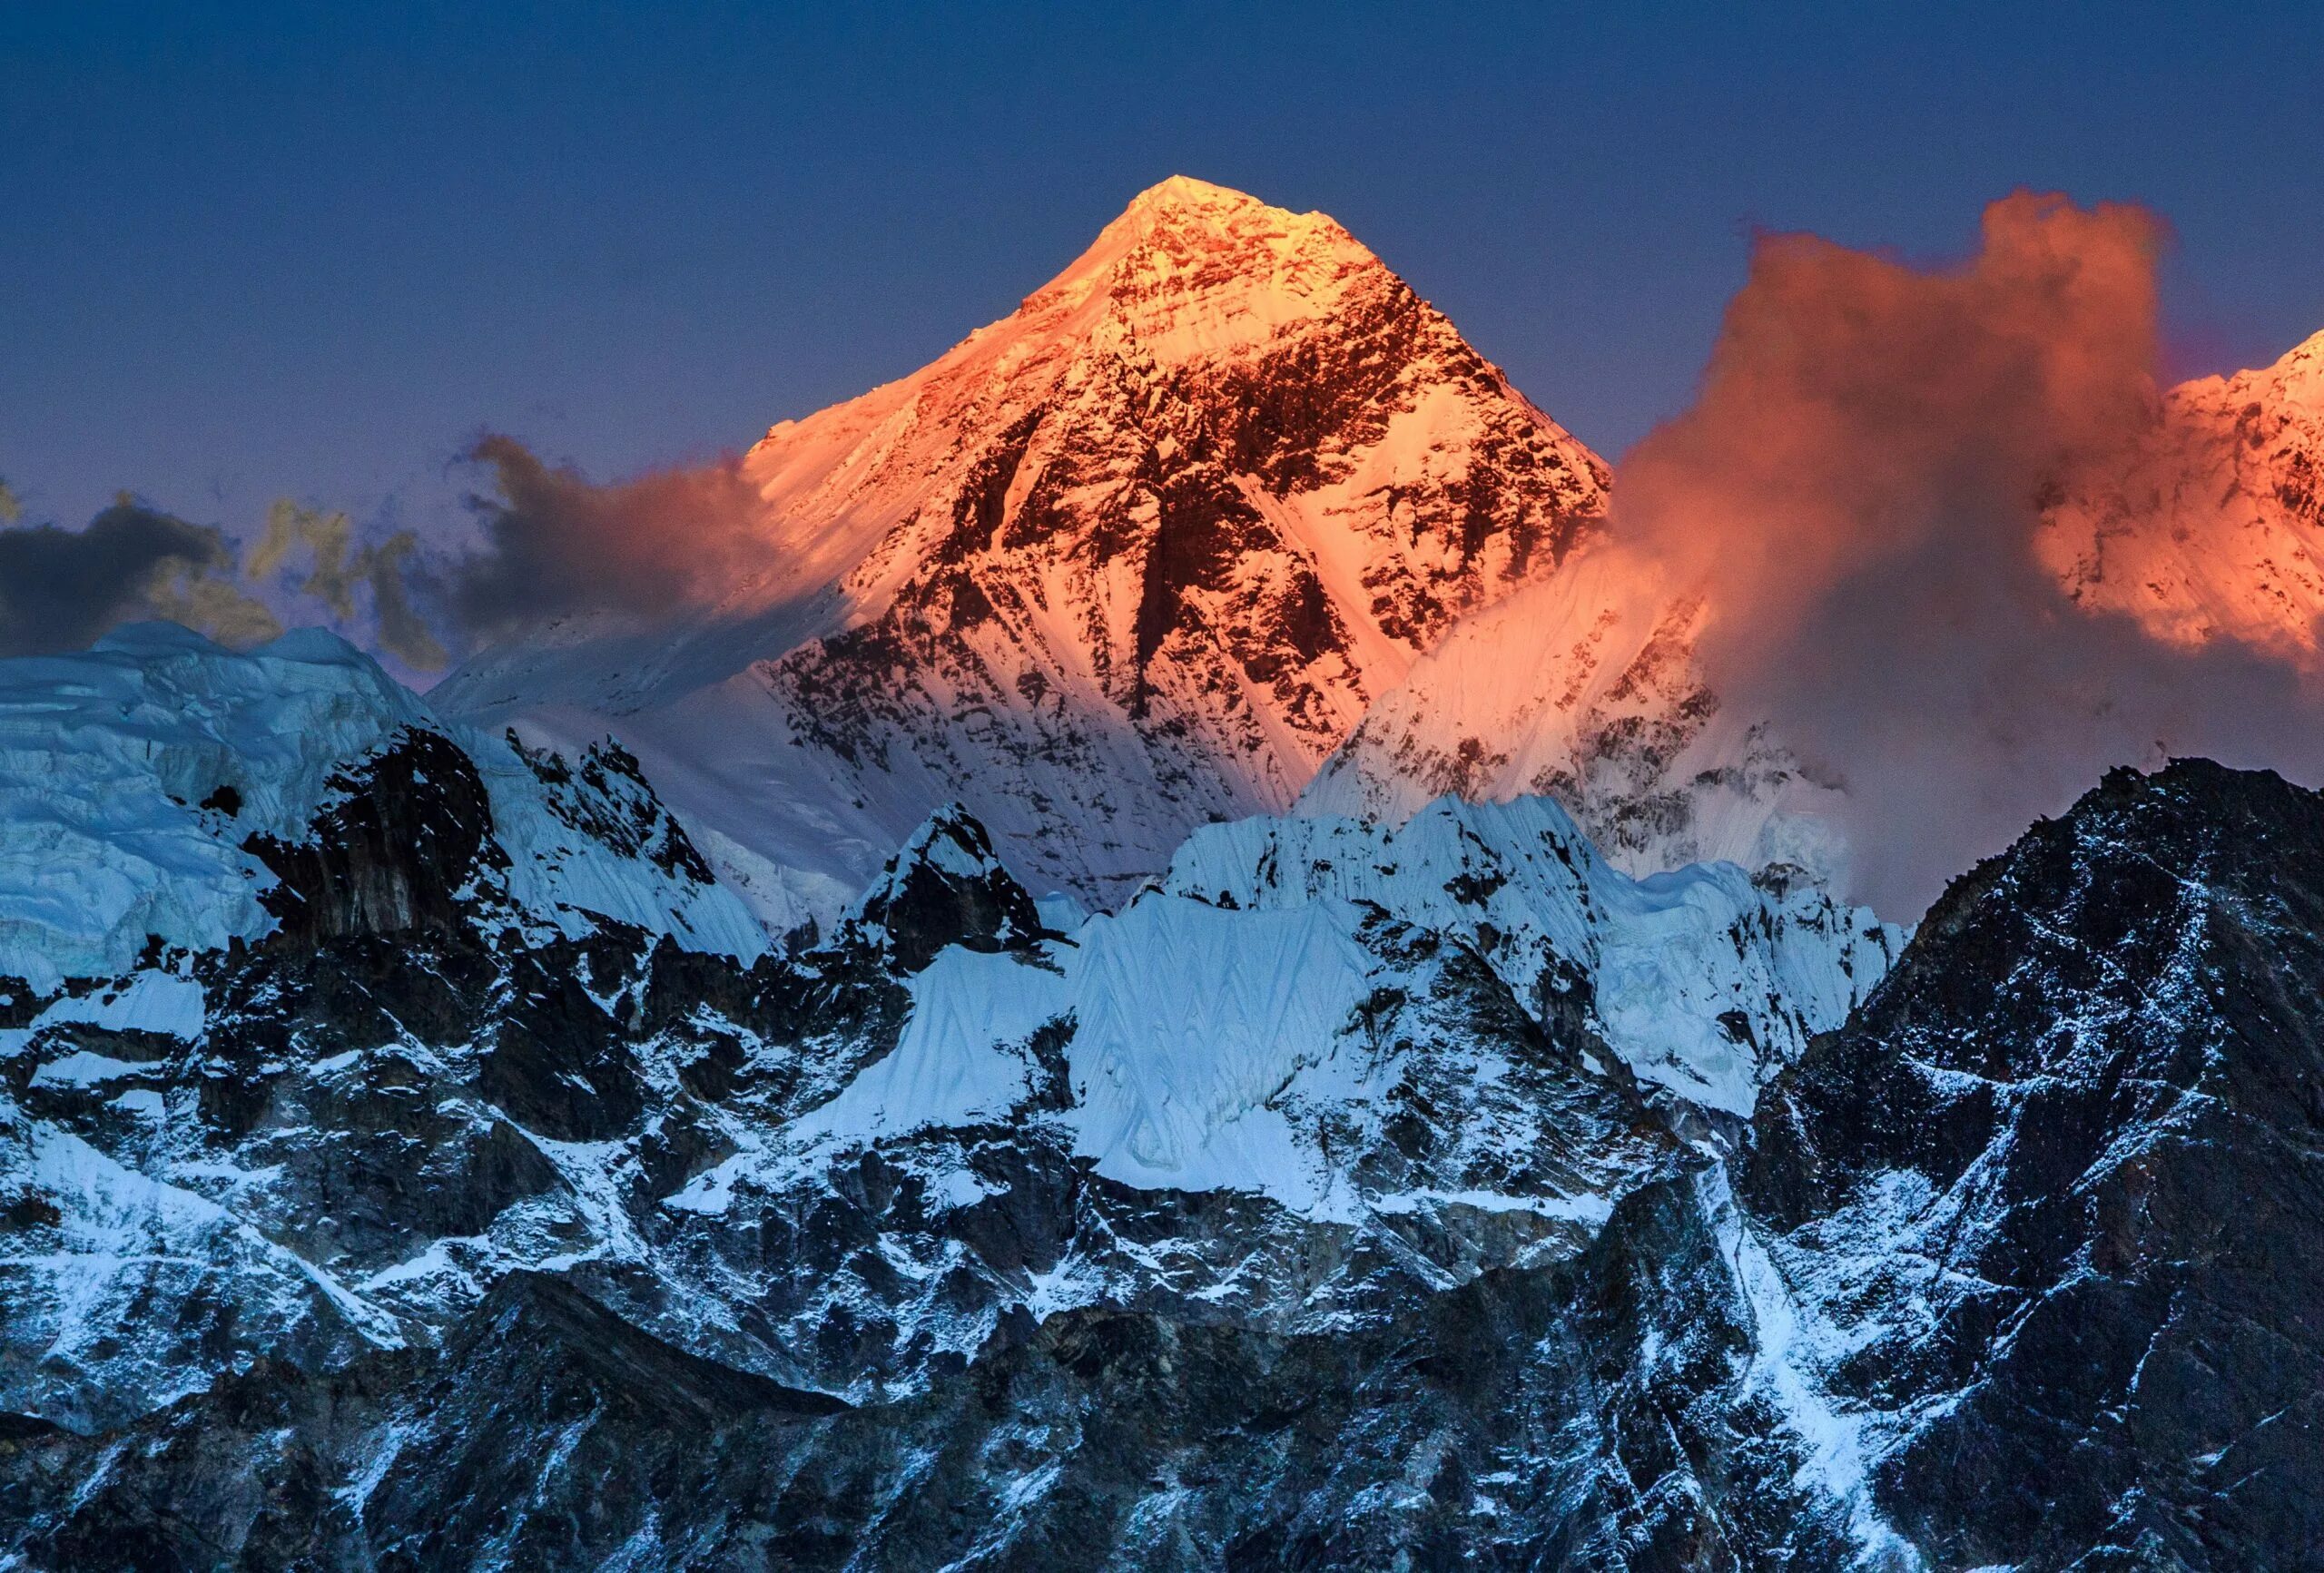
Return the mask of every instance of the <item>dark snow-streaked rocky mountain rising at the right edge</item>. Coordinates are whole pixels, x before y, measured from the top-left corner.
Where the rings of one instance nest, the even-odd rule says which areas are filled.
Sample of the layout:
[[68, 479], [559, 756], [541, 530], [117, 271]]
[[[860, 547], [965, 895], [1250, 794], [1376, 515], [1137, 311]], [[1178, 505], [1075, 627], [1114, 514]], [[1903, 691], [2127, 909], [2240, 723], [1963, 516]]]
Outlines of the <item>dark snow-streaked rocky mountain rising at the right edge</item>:
[[2324, 799], [2115, 771], [1959, 878], [1757, 1118], [1938, 1566], [2324, 1554]]

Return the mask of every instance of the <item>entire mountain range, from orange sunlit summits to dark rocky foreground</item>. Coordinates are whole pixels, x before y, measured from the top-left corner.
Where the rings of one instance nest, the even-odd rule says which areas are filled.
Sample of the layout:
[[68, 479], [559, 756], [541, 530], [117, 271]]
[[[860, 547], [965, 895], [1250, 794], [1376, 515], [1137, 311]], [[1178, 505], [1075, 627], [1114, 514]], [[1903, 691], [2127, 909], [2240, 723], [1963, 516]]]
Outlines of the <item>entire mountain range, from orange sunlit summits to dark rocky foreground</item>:
[[[2319, 346], [2045, 567], [2312, 648]], [[2324, 799], [1836, 902], [1606, 467], [1199, 181], [739, 474], [425, 699], [0, 662], [0, 1568], [2324, 1566]]]

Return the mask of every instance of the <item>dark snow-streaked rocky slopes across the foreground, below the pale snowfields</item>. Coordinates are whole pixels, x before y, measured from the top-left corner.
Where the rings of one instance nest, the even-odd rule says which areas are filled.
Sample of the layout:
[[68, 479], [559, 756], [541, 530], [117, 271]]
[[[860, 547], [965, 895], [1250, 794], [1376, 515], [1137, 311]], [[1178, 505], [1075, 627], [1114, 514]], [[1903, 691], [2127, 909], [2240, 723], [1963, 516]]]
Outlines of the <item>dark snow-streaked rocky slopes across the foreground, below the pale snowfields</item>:
[[[458, 767], [402, 774], [479, 857]], [[72, 1029], [191, 1111], [177, 1162], [265, 1176], [265, 1241], [195, 1259], [195, 1218], [72, 1303], [60, 1166], [156, 1139], [119, 1078], [33, 1085], [60, 1046], [7, 1066], [14, 1566], [2324, 1566], [2324, 799], [2273, 776], [2110, 776], [1750, 1129], [1373, 936], [1418, 1050], [1350, 1164], [1476, 1185], [1459, 1136], [1518, 1099], [1511, 1166], [1597, 1227], [1129, 1190], [1039, 1094], [669, 1206], [888, 1053], [944, 941], [1025, 948], [1023, 892], [906, 862], [744, 969], [535, 943], [453, 899], [474, 869], [358, 843], [297, 864], [332, 920], [195, 962], [200, 1046]]]

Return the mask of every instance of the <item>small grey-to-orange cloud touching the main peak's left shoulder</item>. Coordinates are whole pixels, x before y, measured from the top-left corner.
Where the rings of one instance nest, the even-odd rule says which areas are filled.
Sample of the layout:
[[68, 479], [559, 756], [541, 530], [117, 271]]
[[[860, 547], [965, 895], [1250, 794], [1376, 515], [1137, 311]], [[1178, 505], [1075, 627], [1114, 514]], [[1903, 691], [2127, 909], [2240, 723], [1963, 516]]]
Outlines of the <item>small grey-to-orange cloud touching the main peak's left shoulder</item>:
[[760, 497], [734, 458], [597, 486], [514, 437], [469, 453], [495, 497], [472, 497], [486, 551], [449, 599], [479, 641], [574, 611], [662, 613], [716, 602], [765, 567]]

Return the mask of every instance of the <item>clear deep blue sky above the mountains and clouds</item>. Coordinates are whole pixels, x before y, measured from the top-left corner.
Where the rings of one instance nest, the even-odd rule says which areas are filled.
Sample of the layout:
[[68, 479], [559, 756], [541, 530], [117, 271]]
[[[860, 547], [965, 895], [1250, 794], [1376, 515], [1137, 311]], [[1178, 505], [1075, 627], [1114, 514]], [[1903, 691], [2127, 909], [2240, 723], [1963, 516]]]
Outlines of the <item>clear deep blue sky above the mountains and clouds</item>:
[[1927, 258], [2013, 186], [2133, 197], [2173, 372], [2324, 328], [2315, 0], [1120, 9], [0, 0], [0, 476], [442, 532], [483, 428], [739, 448], [1171, 172], [1334, 214], [1608, 455], [1752, 228]]

